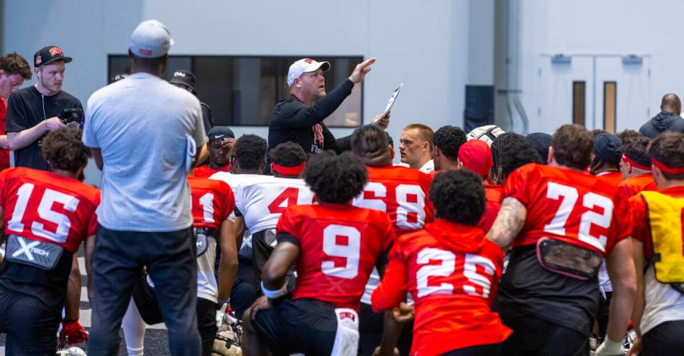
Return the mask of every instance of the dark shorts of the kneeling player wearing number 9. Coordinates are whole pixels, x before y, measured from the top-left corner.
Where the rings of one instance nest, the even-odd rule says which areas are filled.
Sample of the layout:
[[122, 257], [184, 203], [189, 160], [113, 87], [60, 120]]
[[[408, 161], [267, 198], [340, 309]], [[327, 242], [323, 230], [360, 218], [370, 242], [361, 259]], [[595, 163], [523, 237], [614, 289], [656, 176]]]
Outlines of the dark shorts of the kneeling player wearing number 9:
[[337, 332], [335, 307], [308, 298], [285, 300], [278, 307], [263, 309], [251, 324], [273, 355], [330, 355]]

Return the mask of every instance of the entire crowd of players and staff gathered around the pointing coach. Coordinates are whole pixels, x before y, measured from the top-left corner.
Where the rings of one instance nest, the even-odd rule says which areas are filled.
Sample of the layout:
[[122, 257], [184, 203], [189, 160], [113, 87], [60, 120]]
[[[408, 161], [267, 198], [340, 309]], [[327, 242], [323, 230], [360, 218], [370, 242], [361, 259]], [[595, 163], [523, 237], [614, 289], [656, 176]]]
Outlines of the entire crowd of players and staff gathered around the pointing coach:
[[48, 170], [0, 172], [8, 355], [117, 355], [121, 326], [143, 355], [158, 323], [172, 355], [684, 355], [683, 133], [415, 123], [394, 164], [389, 111], [340, 139], [323, 123], [376, 59], [329, 95], [329, 63], [301, 59], [269, 141], [236, 139], [205, 131], [191, 72], [161, 79], [172, 42], [142, 22], [81, 125], [38, 91], [70, 57], [36, 54], [45, 117], [4, 139], [20, 157], [34, 135]]

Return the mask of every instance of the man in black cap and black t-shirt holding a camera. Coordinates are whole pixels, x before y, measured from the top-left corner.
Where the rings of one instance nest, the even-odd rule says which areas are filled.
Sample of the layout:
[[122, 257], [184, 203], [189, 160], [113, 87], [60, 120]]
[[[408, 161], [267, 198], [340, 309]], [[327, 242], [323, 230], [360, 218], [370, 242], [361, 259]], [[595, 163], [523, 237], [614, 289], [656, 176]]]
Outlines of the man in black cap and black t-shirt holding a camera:
[[5, 130], [10, 150], [15, 151], [15, 167], [49, 170], [40, 156], [45, 134], [64, 127], [67, 120], [82, 121], [81, 102], [61, 90], [64, 69], [71, 60], [57, 46], [38, 50], [34, 55], [36, 84], [8, 98]]

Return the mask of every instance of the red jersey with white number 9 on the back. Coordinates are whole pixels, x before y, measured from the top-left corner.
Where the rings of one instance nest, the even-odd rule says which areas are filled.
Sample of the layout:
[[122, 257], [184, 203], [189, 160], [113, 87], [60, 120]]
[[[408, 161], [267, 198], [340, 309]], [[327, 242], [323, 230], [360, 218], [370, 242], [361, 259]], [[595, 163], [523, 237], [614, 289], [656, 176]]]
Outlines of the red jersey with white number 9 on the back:
[[378, 256], [395, 237], [384, 212], [329, 203], [288, 207], [276, 231], [294, 236], [301, 249], [292, 299], [313, 298], [357, 311]]

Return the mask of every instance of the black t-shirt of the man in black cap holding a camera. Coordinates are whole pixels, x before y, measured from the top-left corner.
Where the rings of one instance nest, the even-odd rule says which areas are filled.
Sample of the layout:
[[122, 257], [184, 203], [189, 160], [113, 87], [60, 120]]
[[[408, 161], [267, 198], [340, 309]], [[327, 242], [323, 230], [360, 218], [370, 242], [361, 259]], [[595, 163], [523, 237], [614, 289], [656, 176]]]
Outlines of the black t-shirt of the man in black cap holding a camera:
[[[45, 111], [43, 111], [43, 104]], [[66, 91], [46, 96], [40, 94], [36, 86], [27, 86], [12, 93], [7, 100], [7, 119], [5, 132], [20, 132], [38, 125], [46, 118], [57, 116], [64, 109], [83, 109], [81, 102]], [[15, 150], [15, 167], [29, 167], [33, 169], [50, 170], [43, 156], [40, 155], [40, 141]]]

